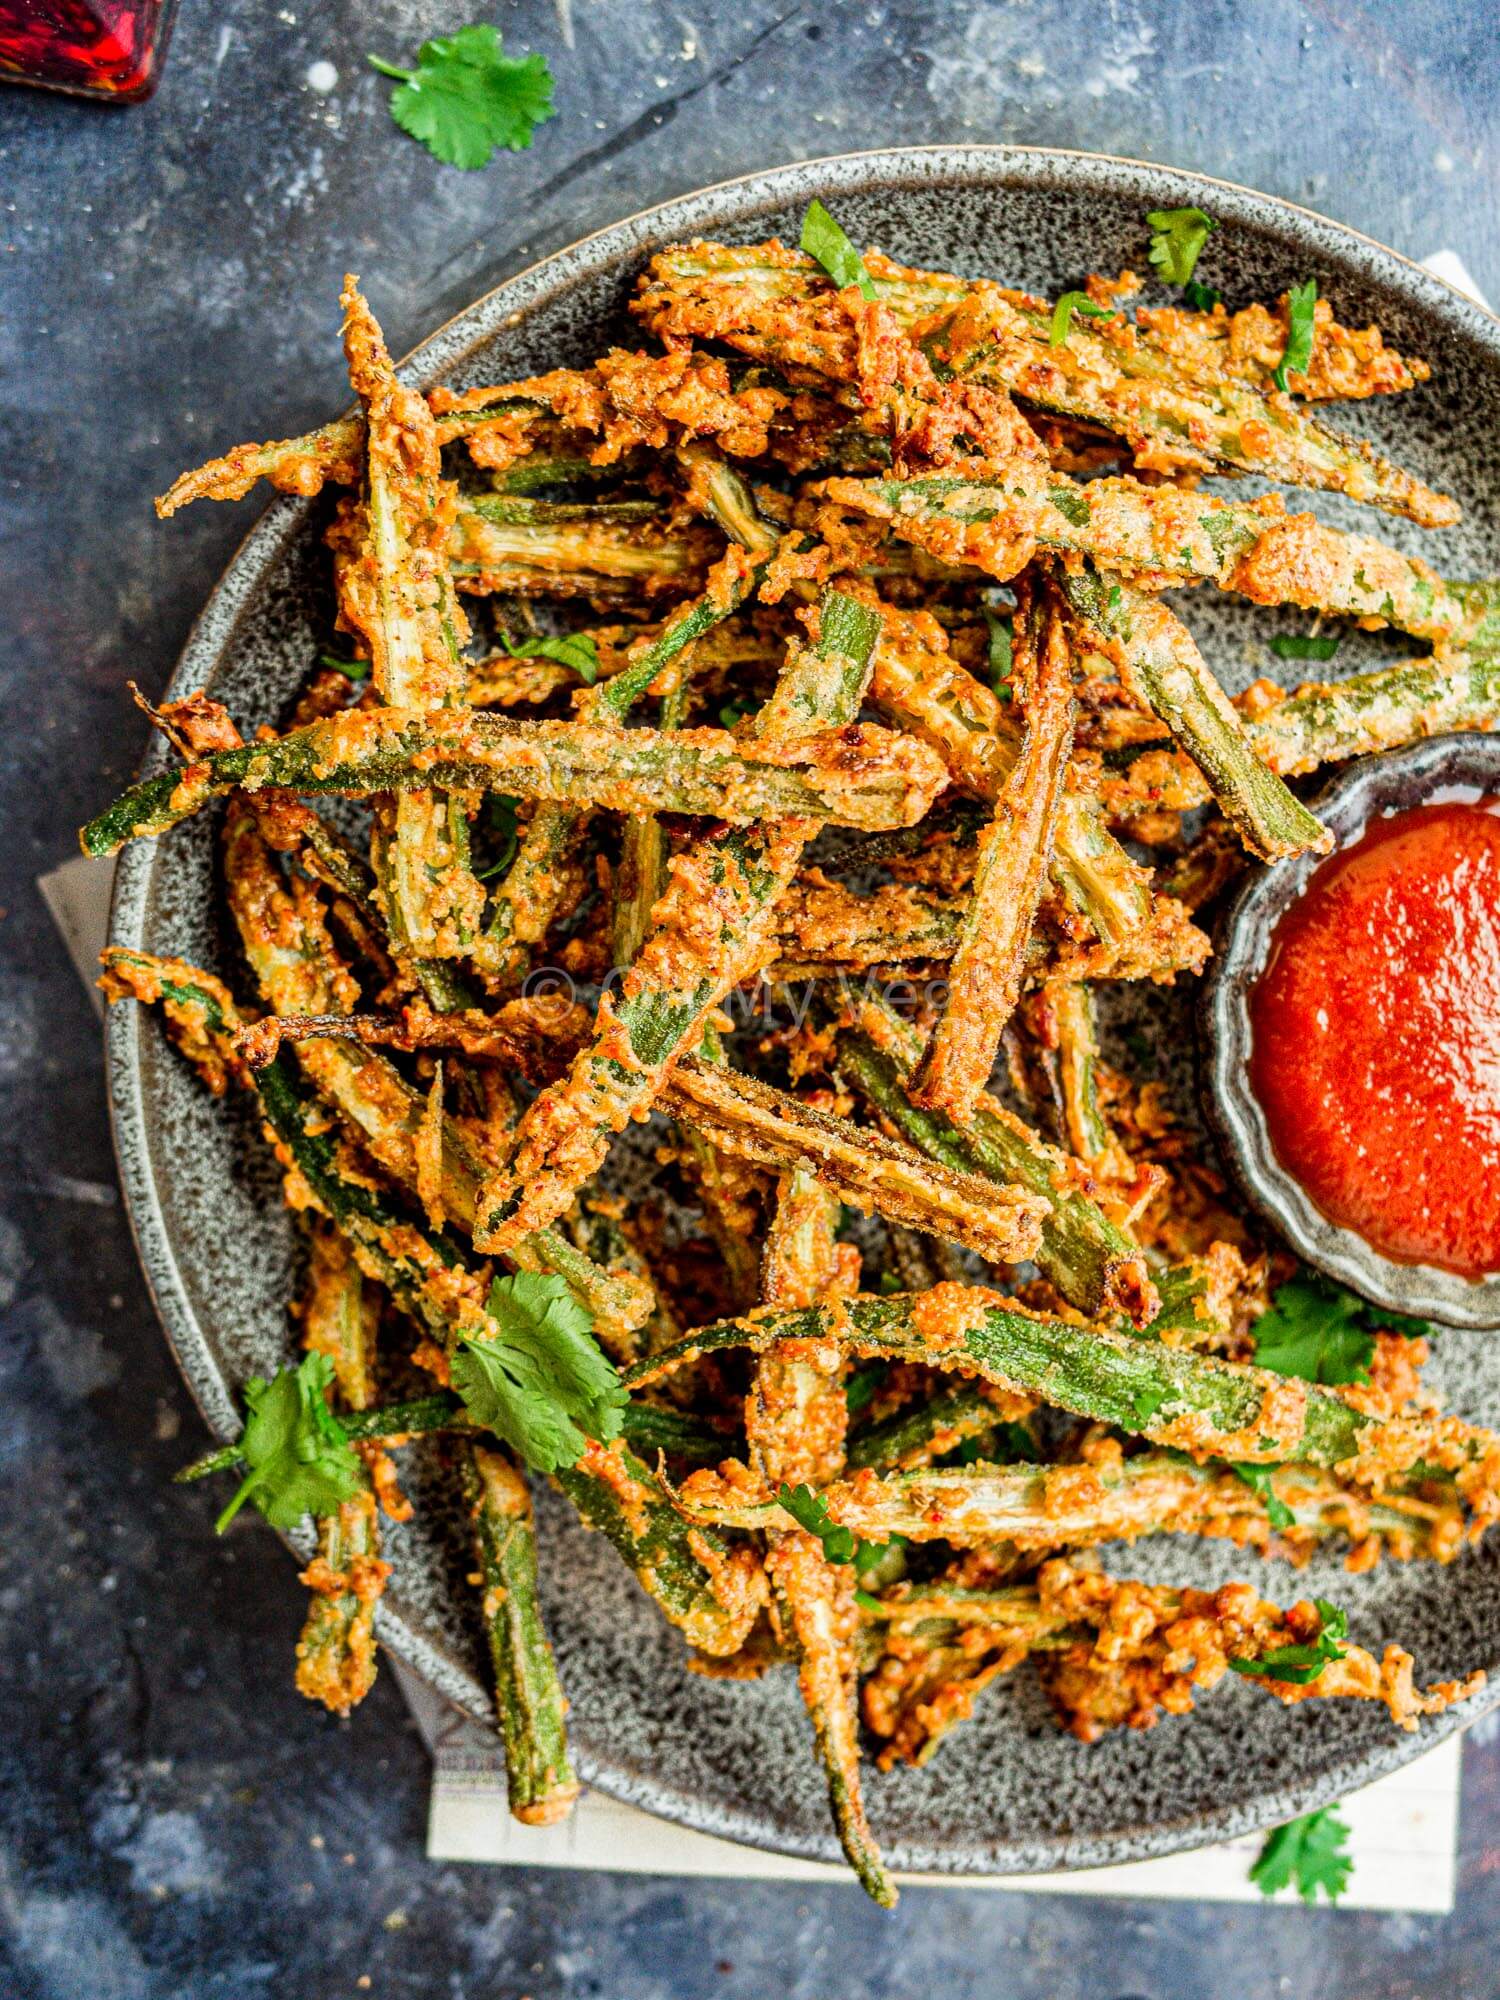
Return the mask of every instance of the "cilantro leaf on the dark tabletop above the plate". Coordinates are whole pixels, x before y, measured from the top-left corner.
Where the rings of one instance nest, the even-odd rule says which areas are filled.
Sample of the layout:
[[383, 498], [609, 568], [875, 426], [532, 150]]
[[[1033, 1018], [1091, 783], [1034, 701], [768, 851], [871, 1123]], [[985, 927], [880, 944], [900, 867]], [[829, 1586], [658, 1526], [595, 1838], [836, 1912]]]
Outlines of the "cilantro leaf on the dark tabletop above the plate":
[[390, 116], [436, 160], [466, 172], [488, 166], [500, 146], [520, 152], [532, 132], [556, 118], [552, 72], [542, 56], [506, 56], [490, 22], [424, 42], [416, 68], [402, 70], [380, 56], [366, 62], [394, 76]]

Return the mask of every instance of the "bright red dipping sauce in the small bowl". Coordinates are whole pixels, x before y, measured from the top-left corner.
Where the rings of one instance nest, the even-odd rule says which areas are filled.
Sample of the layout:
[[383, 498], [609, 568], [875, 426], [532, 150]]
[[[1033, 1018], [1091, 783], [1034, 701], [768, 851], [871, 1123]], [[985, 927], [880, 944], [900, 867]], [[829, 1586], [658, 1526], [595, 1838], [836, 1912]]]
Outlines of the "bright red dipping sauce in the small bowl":
[[1282, 1166], [1400, 1264], [1500, 1270], [1500, 800], [1376, 820], [1318, 866], [1250, 994]]

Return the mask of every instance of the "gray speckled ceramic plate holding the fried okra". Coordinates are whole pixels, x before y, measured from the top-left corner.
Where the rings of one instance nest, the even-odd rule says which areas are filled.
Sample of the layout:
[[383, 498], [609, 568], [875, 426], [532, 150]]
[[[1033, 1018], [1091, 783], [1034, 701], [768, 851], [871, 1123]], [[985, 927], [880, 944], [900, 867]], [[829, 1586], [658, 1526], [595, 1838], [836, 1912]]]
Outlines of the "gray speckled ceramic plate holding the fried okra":
[[[1088, 270], [1130, 264], [1144, 272], [1146, 210], [1206, 208], [1222, 226], [1200, 276], [1230, 300], [1272, 298], [1316, 274], [1344, 320], [1378, 320], [1396, 346], [1434, 364], [1426, 388], [1356, 406], [1340, 422], [1458, 494], [1464, 526], [1422, 538], [1348, 506], [1320, 500], [1318, 510], [1420, 544], [1452, 574], [1500, 568], [1488, 506], [1500, 448], [1500, 326], [1416, 266], [1318, 216], [1122, 160], [930, 148], [756, 174], [634, 216], [522, 272], [418, 348], [406, 374], [418, 384], [442, 378], [462, 386], [580, 364], [606, 338], [626, 338], [624, 300], [658, 244], [688, 236], [748, 242], [772, 232], [794, 238], [814, 194], [860, 242], [1042, 292], [1078, 284]], [[244, 728], [282, 710], [328, 630], [320, 520], [316, 504], [296, 500], [266, 512], [208, 600], [174, 694], [210, 686]], [[1206, 592], [1188, 600], [1188, 616], [1230, 688], [1272, 672], [1266, 638], [1278, 624], [1294, 624]], [[1338, 670], [1394, 656], [1388, 640], [1354, 636]], [[158, 756], [152, 752], [152, 762]], [[208, 818], [126, 852], [114, 938], [208, 962], [224, 956]], [[1190, 1046], [1190, 996], [1150, 1004], [1152, 1062], [1190, 1100], [1180, 1060]], [[1132, 1044], [1142, 1046], [1138, 1036]], [[294, 1246], [276, 1176], [250, 1110], [210, 1102], [156, 1024], [134, 1008], [110, 1018], [110, 1088], [142, 1262], [188, 1384], [212, 1430], [228, 1436], [236, 1428], [232, 1384], [270, 1370], [290, 1346], [284, 1300]], [[1490, 1338], [1444, 1338], [1436, 1376], [1458, 1412], [1500, 1420], [1500, 1358]], [[382, 1634], [454, 1700], [486, 1714], [472, 1594], [462, 1588], [468, 1556], [450, 1534], [442, 1492], [420, 1490], [436, 1484], [428, 1466], [412, 1454], [418, 1510], [416, 1522], [392, 1536], [396, 1576]], [[688, 1676], [678, 1636], [610, 1548], [584, 1534], [550, 1494], [542, 1516], [548, 1616], [584, 1776], [706, 1832], [836, 1860], [790, 1676], [758, 1684]], [[1138, 1574], [1178, 1582], [1216, 1584], [1234, 1572], [1224, 1544], [1178, 1538], [1142, 1544], [1128, 1562]], [[1284, 1596], [1336, 1592], [1360, 1640], [1378, 1650], [1400, 1636], [1424, 1678], [1500, 1666], [1494, 1552], [1444, 1570], [1390, 1564], [1358, 1580], [1326, 1558], [1296, 1576], [1268, 1570], [1264, 1584]], [[1474, 1712], [1470, 1706], [1466, 1716]], [[1022, 1670], [986, 1694], [976, 1718], [926, 1770], [872, 1774], [870, 1816], [900, 1868], [1086, 1868], [1288, 1818], [1390, 1770], [1458, 1720], [1446, 1716], [1422, 1736], [1400, 1736], [1366, 1704], [1282, 1710], [1236, 1684], [1206, 1696], [1190, 1718], [1086, 1748], [1054, 1728]]]

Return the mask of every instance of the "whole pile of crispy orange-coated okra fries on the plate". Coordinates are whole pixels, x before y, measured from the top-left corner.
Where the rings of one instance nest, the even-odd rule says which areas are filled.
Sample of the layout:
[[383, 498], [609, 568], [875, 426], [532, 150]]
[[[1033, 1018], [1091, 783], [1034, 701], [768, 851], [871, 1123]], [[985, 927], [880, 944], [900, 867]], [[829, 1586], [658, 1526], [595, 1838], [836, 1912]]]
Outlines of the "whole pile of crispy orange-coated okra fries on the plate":
[[[398, 380], [350, 278], [358, 410], [160, 502], [330, 488], [338, 634], [280, 734], [206, 696], [152, 710], [178, 762], [82, 840], [222, 802], [238, 996], [130, 950], [104, 984], [212, 1090], [258, 1094], [306, 1224], [296, 1318], [328, 1366], [300, 1420], [360, 1470], [316, 1514], [304, 1692], [346, 1712], [370, 1686], [392, 1452], [440, 1432], [512, 1810], [578, 1792], [530, 1474], [694, 1666], [796, 1666], [844, 1850], [890, 1902], [862, 1732], [922, 1762], [1028, 1656], [1084, 1740], [1230, 1666], [1406, 1728], [1480, 1678], [1420, 1692], [1322, 1600], [1092, 1554], [1450, 1560], [1500, 1512], [1500, 1438], [1438, 1414], [1410, 1328], [1354, 1384], [1254, 1364], [1292, 1266], [1160, 1086], [1100, 1060], [1094, 988], [1196, 974], [1194, 918], [1246, 856], [1326, 848], [1288, 776], [1488, 728], [1500, 584], [1206, 484], [1456, 518], [1318, 414], [1426, 374], [1322, 302], [1282, 388], [1284, 300], [1132, 314], [1090, 280], [1058, 338], [988, 280], [852, 248], [840, 274], [664, 250], [638, 348], [462, 394]], [[1416, 646], [1230, 700], [1180, 586]], [[650, 1116], [688, 1234], [596, 1178]]]

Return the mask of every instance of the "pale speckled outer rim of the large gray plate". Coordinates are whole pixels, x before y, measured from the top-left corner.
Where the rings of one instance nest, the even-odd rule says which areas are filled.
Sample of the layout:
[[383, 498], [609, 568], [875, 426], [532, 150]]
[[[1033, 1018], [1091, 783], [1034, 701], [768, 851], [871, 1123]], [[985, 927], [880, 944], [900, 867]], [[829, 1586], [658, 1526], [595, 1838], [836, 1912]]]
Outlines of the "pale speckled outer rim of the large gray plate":
[[[756, 168], [702, 188], [672, 194], [662, 202], [634, 210], [572, 242], [550, 250], [478, 294], [466, 306], [442, 320], [400, 362], [402, 380], [426, 388], [450, 372], [466, 354], [492, 340], [504, 318], [524, 318], [554, 292], [568, 290], [580, 276], [606, 270], [626, 258], [648, 252], [650, 240], [674, 240], [674, 216], [682, 216], [676, 234], [704, 232], [726, 222], [754, 216], [758, 208], [786, 206], [794, 198], [830, 192], [878, 192], [882, 186], [934, 186], [944, 178], [954, 184], [1036, 186], [1056, 174], [1068, 192], [1088, 192], [1094, 182], [1104, 194], [1140, 194], [1152, 198], [1162, 190], [1186, 198], [1210, 192], [1220, 220], [1244, 222], [1266, 234], [1282, 234], [1288, 242], [1308, 244], [1318, 238], [1318, 254], [1342, 260], [1344, 268], [1366, 278], [1396, 286], [1418, 312], [1436, 316], [1458, 338], [1478, 340], [1490, 348], [1500, 366], [1500, 316], [1438, 278], [1412, 258], [1402, 256], [1378, 238], [1348, 224], [1334, 222], [1284, 196], [1262, 194], [1232, 180], [1198, 174], [1164, 162], [1136, 160], [1124, 154], [1100, 154], [1080, 148], [1008, 146], [1008, 144], [928, 144], [882, 146], [860, 152], [824, 154], [810, 160]], [[692, 216], [692, 220], [686, 220]], [[504, 318], [500, 304], [504, 302]], [[178, 698], [208, 682], [210, 670], [234, 642], [240, 620], [250, 610], [260, 580], [300, 532], [312, 510], [310, 500], [278, 496], [248, 528], [230, 554], [212, 592], [198, 612], [188, 640], [168, 682], [166, 698]], [[168, 750], [148, 744], [142, 772], [166, 766]], [[150, 910], [156, 842], [132, 842], [118, 858], [110, 904], [110, 944], [146, 948], [144, 926]], [[150, 1132], [146, 1128], [142, 1092], [142, 1022], [138, 1008], [110, 1008], [106, 1018], [106, 1088], [110, 1104], [110, 1134], [120, 1170], [126, 1216], [136, 1244], [152, 1304], [162, 1322], [168, 1348], [192, 1394], [204, 1422], [218, 1440], [238, 1434], [240, 1418], [228, 1380], [218, 1366], [210, 1336], [182, 1282], [172, 1236], [150, 1170]], [[424, 1674], [448, 1698], [472, 1712], [464, 1698], [462, 1676], [456, 1680], [452, 1662], [428, 1644], [398, 1612], [382, 1606], [380, 1638], [394, 1656]], [[1206, 1846], [1238, 1834], [1280, 1824], [1316, 1806], [1344, 1798], [1386, 1772], [1398, 1770], [1454, 1732], [1476, 1722], [1500, 1704], [1500, 1672], [1490, 1676], [1480, 1696], [1462, 1710], [1448, 1710], [1426, 1728], [1408, 1736], [1392, 1732], [1386, 1742], [1334, 1752], [1316, 1776], [1296, 1780], [1256, 1794], [1254, 1802], [1204, 1808], [1168, 1816], [1154, 1826], [1122, 1826], [1120, 1830], [1070, 1836], [1032, 1834], [1014, 1840], [990, 1840], [964, 1852], [928, 1848], [920, 1840], [902, 1840], [896, 1830], [882, 1834], [886, 1854], [896, 1872], [942, 1874], [956, 1880], [976, 1876], [1020, 1876], [1040, 1872], [1082, 1872], [1124, 1860], [1146, 1860]], [[1296, 1726], [1284, 1716], [1284, 1726]], [[574, 1762], [580, 1776], [612, 1798], [644, 1808], [662, 1818], [716, 1834], [744, 1846], [804, 1860], [838, 1864], [842, 1860], [832, 1830], [802, 1834], [796, 1828], [774, 1826], [760, 1816], [722, 1810], [712, 1802], [674, 1790], [656, 1774], [642, 1774], [622, 1762], [610, 1762], [592, 1746], [578, 1742]]]

